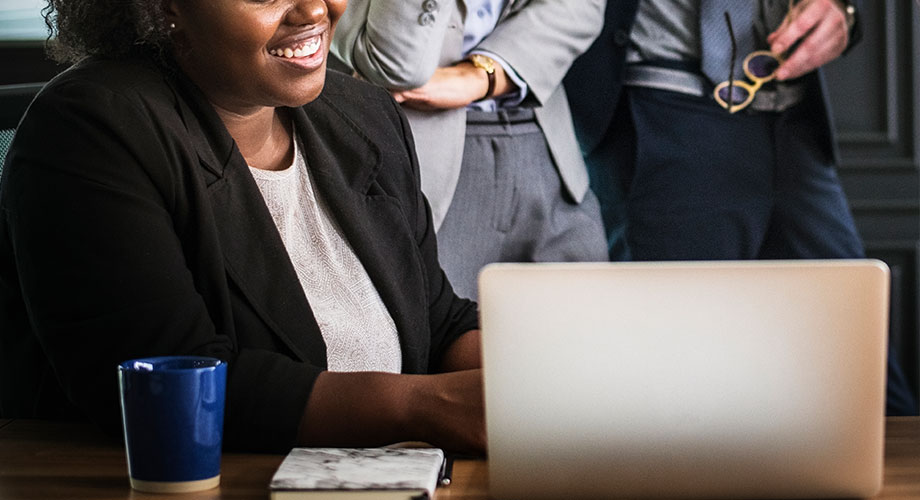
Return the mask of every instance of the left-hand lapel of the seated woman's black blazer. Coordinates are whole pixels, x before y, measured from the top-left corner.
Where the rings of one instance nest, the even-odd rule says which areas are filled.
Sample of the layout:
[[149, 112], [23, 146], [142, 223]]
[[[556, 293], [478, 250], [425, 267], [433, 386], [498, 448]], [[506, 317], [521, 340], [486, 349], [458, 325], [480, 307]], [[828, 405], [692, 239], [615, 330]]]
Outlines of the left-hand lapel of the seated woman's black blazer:
[[326, 344], [262, 193], [200, 92], [179, 99], [208, 182], [227, 275], [266, 325], [303, 361], [326, 366]]

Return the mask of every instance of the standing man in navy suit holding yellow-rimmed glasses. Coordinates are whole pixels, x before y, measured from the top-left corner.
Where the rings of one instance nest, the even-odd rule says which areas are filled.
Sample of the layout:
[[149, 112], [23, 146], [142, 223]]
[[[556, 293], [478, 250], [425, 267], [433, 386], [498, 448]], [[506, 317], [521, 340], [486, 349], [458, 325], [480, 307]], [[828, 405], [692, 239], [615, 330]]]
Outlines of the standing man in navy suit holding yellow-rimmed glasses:
[[[612, 260], [864, 257], [820, 70], [858, 10], [608, 0], [565, 85]], [[888, 411], [916, 412], [895, 362]]]

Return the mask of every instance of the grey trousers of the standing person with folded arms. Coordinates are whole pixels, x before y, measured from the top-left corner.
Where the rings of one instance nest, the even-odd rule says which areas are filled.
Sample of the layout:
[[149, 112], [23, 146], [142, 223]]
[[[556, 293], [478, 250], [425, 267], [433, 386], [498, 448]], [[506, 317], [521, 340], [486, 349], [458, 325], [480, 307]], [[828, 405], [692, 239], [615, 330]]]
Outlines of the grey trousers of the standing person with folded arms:
[[479, 270], [492, 262], [607, 260], [597, 198], [572, 200], [533, 111], [467, 112], [438, 256], [457, 295], [474, 300]]

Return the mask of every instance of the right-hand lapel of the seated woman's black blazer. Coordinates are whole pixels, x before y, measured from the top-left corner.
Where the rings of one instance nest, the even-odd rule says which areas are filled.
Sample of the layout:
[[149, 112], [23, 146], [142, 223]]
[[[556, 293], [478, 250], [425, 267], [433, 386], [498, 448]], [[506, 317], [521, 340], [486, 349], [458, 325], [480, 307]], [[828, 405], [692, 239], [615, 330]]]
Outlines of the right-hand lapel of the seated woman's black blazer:
[[379, 149], [323, 96], [295, 110], [294, 121], [321, 199], [396, 324], [403, 371], [424, 370], [428, 346], [421, 337], [427, 335], [428, 325], [417, 311], [427, 310], [427, 305], [421, 299], [424, 294], [404, 293], [424, 289], [417, 249], [410, 243], [414, 238], [398, 200], [376, 183]]

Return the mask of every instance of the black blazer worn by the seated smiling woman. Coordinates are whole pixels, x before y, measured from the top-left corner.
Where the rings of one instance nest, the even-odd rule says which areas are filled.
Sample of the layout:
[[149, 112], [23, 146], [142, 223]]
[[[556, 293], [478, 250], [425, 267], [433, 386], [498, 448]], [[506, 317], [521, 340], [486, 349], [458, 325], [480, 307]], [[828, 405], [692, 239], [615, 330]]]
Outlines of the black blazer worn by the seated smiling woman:
[[[477, 313], [438, 265], [405, 118], [335, 72], [291, 113], [403, 371], [426, 372]], [[294, 444], [325, 344], [245, 160], [183, 76], [90, 60], [33, 102], [0, 180], [0, 348], [3, 416], [118, 429], [118, 362], [209, 355], [229, 362], [225, 443]]]

